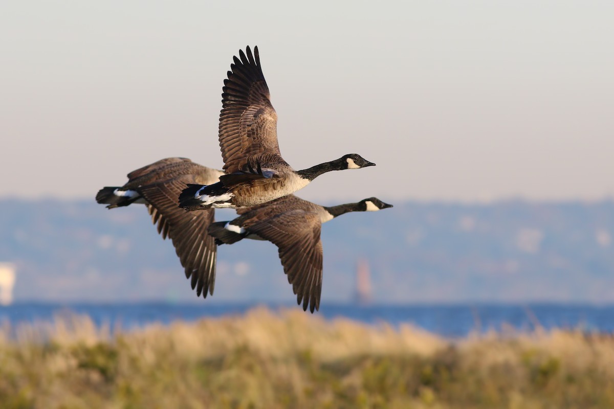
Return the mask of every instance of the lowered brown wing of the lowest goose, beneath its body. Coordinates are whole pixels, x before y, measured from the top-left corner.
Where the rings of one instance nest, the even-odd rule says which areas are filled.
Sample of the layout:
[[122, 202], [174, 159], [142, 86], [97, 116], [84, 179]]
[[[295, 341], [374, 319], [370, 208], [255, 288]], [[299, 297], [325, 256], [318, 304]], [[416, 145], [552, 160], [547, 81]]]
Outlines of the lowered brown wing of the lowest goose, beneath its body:
[[322, 293], [322, 241], [319, 216], [313, 212], [290, 210], [251, 227], [263, 239], [279, 248], [279, 258], [292, 284], [297, 302], [313, 313], [320, 308]]

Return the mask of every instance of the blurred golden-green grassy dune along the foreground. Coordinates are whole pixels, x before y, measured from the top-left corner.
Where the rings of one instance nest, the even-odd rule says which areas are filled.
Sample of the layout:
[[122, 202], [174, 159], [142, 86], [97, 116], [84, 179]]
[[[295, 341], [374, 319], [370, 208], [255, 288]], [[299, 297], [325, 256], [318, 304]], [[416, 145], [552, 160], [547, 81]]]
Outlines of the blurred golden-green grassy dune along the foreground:
[[449, 342], [265, 309], [132, 332], [61, 316], [0, 329], [0, 408], [614, 408], [614, 338]]

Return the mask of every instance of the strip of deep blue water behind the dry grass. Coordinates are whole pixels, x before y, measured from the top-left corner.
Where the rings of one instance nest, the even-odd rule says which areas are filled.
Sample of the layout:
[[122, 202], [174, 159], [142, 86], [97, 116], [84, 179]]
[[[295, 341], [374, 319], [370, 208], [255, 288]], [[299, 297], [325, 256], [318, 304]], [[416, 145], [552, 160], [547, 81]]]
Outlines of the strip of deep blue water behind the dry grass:
[[[96, 324], [119, 325], [134, 329], [150, 323], [168, 324], [176, 319], [196, 321], [204, 317], [242, 315], [263, 304], [41, 304], [17, 303], [0, 307], [0, 323], [16, 326], [34, 321], [52, 321], [55, 315], [73, 312], [89, 315]], [[297, 308], [290, 305], [264, 304], [273, 311]], [[306, 313], [309, 314], [309, 313]], [[398, 326], [410, 323], [446, 337], [462, 337], [475, 331], [500, 331], [503, 325], [519, 331], [535, 326], [545, 329], [581, 329], [587, 332], [614, 332], [614, 305], [583, 304], [416, 304], [322, 305], [316, 312], [326, 319], [349, 318], [362, 323], [382, 321]]]

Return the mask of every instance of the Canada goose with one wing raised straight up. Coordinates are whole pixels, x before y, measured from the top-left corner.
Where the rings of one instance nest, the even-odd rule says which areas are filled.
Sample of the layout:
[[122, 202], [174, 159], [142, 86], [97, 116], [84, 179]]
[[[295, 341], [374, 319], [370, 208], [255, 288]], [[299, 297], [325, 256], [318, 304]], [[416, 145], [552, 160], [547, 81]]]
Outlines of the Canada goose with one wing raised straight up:
[[240, 59], [234, 57], [222, 88], [219, 141], [227, 175], [213, 185], [189, 185], [179, 196], [180, 207], [251, 207], [304, 188], [331, 170], [375, 166], [352, 153], [309, 169], [292, 169], [279, 152], [277, 113], [262, 74], [258, 47], [254, 55], [249, 47], [246, 53], [239, 50]]

